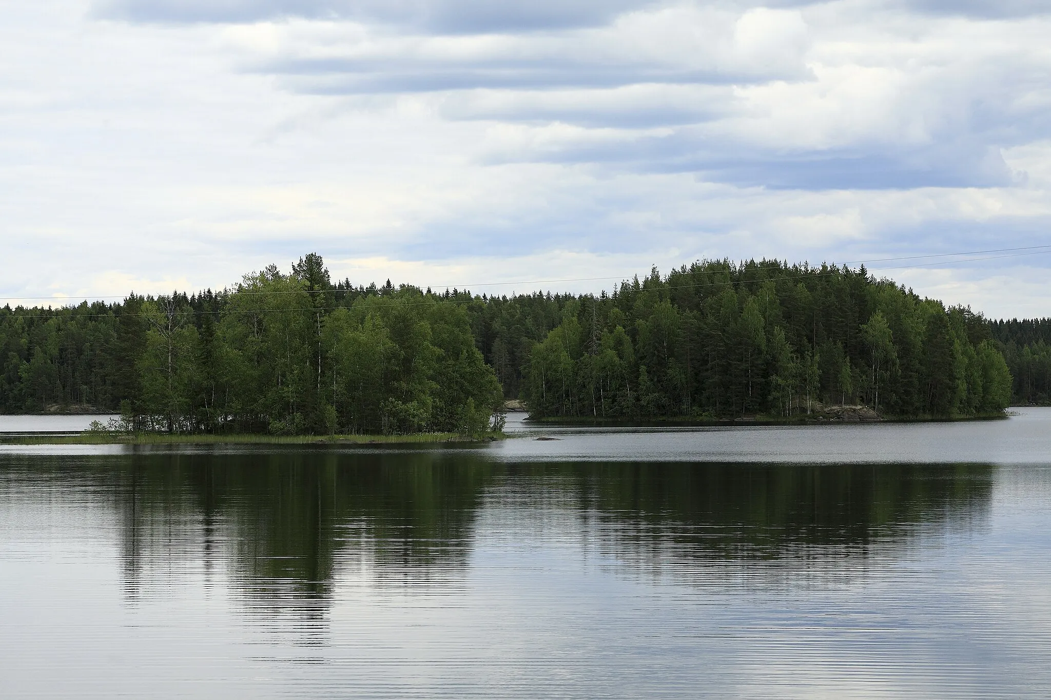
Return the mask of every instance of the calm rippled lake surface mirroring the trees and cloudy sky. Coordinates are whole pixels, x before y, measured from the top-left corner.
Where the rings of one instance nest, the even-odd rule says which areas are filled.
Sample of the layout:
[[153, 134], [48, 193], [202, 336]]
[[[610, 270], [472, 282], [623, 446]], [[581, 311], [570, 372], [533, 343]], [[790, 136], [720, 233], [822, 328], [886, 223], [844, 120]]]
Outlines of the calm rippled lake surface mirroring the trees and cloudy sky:
[[1019, 412], [0, 446], [0, 696], [1046, 698], [1051, 410]]

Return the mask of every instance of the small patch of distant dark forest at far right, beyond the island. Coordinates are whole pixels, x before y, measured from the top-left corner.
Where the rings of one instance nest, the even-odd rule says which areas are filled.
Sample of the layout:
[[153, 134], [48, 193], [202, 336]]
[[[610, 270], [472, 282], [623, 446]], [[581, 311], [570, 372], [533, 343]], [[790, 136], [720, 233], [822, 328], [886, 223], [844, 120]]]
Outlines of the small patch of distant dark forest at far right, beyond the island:
[[1051, 404], [1051, 318], [991, 321], [990, 327], [1014, 378], [1012, 402]]

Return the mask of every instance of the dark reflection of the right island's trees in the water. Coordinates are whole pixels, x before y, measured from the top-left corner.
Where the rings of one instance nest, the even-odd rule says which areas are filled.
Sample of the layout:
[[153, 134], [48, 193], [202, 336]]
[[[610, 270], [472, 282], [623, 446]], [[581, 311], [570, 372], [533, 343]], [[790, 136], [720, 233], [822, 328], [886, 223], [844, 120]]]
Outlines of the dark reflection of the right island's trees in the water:
[[988, 514], [990, 465], [576, 464], [605, 545], [706, 558], [864, 554]]

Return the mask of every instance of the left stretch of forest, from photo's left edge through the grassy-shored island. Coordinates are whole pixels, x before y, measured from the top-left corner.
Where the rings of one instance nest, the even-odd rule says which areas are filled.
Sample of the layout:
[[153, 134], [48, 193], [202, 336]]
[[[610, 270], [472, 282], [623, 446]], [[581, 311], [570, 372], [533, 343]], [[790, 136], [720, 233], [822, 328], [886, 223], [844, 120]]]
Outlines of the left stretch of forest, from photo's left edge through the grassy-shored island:
[[0, 351], [4, 411], [90, 404], [136, 430], [479, 433], [502, 402], [461, 304], [332, 284], [315, 254], [219, 293], [5, 309]]

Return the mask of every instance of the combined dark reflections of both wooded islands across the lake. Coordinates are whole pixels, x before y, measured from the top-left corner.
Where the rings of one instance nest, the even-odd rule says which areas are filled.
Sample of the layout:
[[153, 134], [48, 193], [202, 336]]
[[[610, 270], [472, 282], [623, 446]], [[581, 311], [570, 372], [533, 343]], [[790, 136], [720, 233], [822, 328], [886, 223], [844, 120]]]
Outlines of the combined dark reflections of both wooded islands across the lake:
[[[4, 461], [7, 463], [7, 461]], [[469, 452], [136, 454], [26, 462], [115, 503], [125, 580], [145, 561], [229, 570], [255, 610], [324, 615], [333, 570], [385, 586], [448, 582], [466, 566], [487, 488], [518, 508], [571, 509], [589, 542], [645, 563], [864, 554], [982, 517], [984, 465], [561, 463]], [[488, 501], [499, 510], [499, 499]], [[499, 522], [499, 521], [497, 521]], [[569, 534], [569, 533], [557, 533]], [[575, 535], [574, 535], [575, 536]], [[671, 558], [668, 558], [671, 556]], [[217, 566], [219, 563], [222, 566]], [[228, 564], [227, 564], [228, 563]], [[150, 576], [153, 574], [150, 569]], [[300, 610], [303, 614], [305, 611]]]

